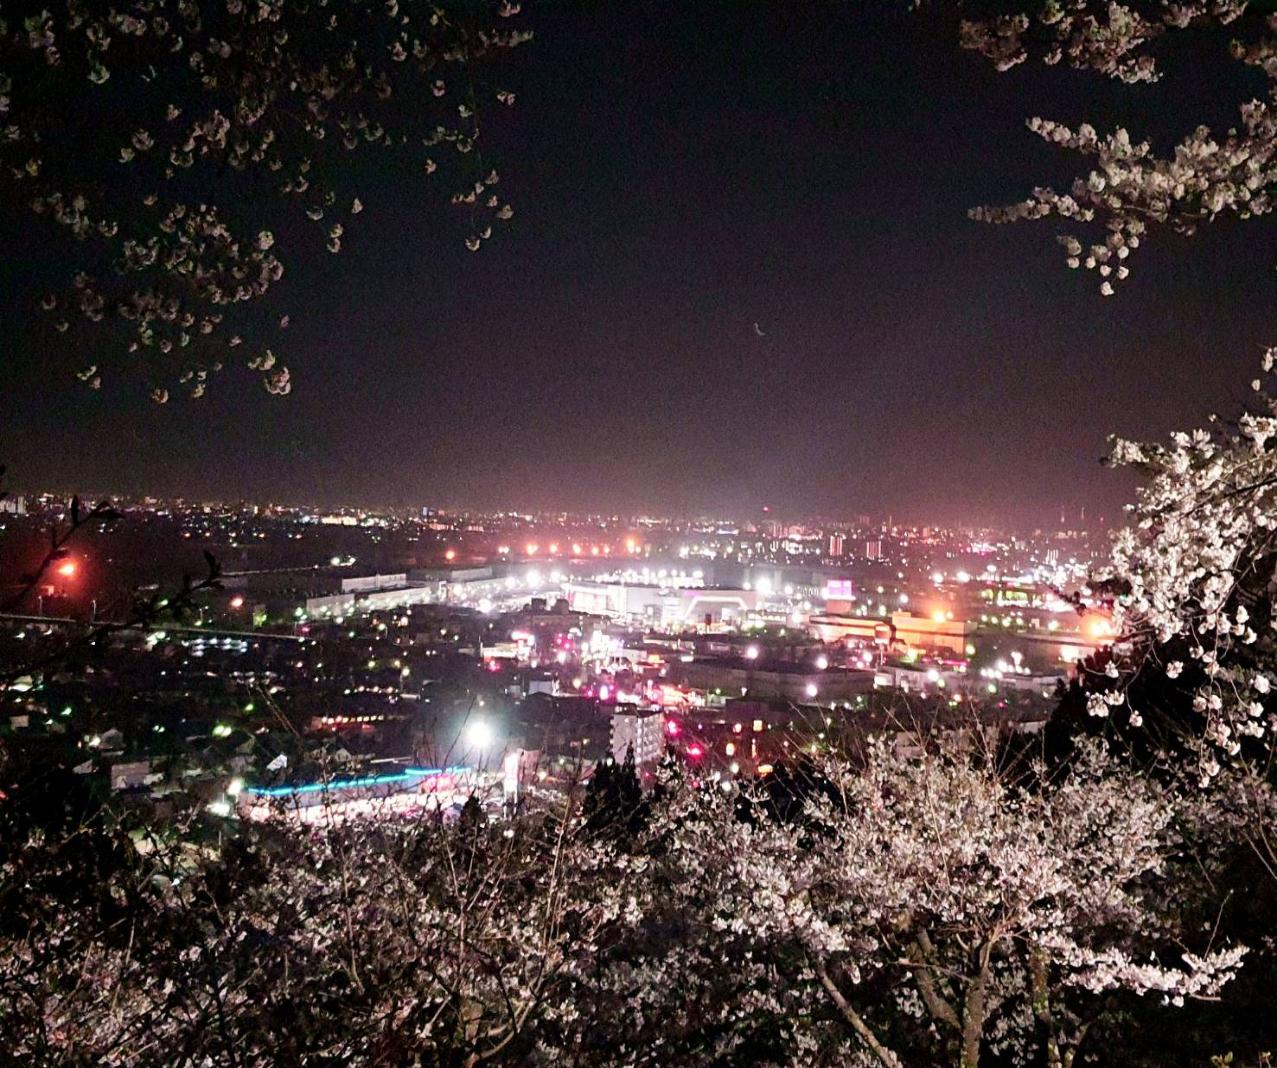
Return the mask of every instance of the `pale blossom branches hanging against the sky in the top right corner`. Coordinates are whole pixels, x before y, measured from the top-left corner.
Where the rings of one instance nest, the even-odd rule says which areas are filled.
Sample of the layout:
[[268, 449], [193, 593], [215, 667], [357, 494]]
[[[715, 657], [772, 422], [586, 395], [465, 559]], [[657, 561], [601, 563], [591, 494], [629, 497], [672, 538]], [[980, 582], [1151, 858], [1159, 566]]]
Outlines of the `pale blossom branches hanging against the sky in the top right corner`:
[[[1018, 5], [1013, 5], [1018, 6]], [[1267, 9], [1266, 9], [1267, 10]], [[979, 207], [990, 222], [1055, 217], [1091, 236], [1064, 233], [1069, 267], [1094, 271], [1106, 296], [1129, 275], [1129, 257], [1154, 226], [1193, 234], [1221, 216], [1253, 218], [1273, 210], [1277, 185], [1277, 15], [1266, 18], [1248, 0], [1047, 0], [963, 23], [964, 47], [999, 70], [1029, 59], [1097, 72], [1138, 84], [1161, 78], [1157, 42], [1180, 31], [1221, 29], [1220, 47], [1269, 79], [1266, 100], [1239, 101], [1240, 123], [1217, 132], [1198, 125], [1168, 155], [1119, 126], [1103, 133], [1088, 123], [1045, 118], [1029, 129], [1089, 161], [1068, 190], [1041, 187], [1008, 207]], [[1079, 231], [1082, 233], [1082, 231]]]

